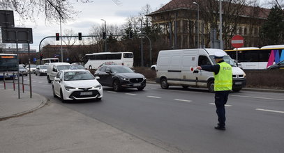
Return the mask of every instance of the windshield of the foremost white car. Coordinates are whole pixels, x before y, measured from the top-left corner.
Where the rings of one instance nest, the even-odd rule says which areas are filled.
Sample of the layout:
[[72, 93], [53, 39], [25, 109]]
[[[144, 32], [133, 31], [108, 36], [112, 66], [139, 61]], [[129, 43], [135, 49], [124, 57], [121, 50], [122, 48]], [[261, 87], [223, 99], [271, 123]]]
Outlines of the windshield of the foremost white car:
[[73, 81], [73, 80], [91, 80], [95, 77], [87, 71], [75, 71], [75, 72], [65, 72], [64, 81]]

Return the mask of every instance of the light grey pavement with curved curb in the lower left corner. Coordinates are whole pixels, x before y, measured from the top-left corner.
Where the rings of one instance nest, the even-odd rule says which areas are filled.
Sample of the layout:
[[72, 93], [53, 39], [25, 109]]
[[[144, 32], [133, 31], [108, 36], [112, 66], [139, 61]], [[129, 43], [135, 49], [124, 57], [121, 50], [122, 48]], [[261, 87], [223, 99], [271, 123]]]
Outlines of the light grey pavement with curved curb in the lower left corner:
[[[26, 114], [21, 115], [23, 113]], [[18, 99], [17, 90], [0, 89], [0, 134], [0, 152], [3, 153], [176, 152], [60, 104], [47, 102], [36, 93], [32, 98], [29, 92], [21, 93]]]

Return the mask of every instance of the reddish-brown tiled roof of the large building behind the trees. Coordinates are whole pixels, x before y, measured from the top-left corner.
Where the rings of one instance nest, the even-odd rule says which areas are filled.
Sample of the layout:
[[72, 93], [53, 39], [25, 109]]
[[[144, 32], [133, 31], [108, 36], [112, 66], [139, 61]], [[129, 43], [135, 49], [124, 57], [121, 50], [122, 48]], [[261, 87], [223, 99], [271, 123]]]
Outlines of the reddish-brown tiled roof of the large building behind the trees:
[[[172, 0], [169, 3], [165, 4], [162, 8], [154, 11], [153, 13], [149, 14], [148, 16], [156, 15], [159, 13], [172, 11], [172, 10], [180, 10], [180, 9], [194, 9], [196, 10], [195, 2], [196, 0]], [[202, 3], [199, 3], [200, 6], [204, 5], [207, 1], [202, 1]], [[225, 3], [225, 2], [223, 2]], [[235, 4], [237, 5], [237, 4]], [[253, 6], [244, 6], [244, 13], [241, 16], [244, 17], [251, 17], [252, 13], [255, 13], [255, 9], [257, 9], [257, 14], [254, 15], [255, 17], [267, 19], [270, 9], [267, 8], [260, 8], [260, 7], [253, 7]]]

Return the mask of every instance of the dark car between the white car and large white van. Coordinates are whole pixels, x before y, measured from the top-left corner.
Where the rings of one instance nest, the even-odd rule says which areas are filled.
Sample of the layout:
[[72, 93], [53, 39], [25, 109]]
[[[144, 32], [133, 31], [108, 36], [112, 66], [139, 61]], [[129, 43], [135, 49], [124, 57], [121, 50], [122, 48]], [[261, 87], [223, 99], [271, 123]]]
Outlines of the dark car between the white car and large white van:
[[122, 88], [137, 88], [143, 90], [146, 86], [146, 78], [140, 73], [135, 73], [127, 66], [104, 65], [95, 72], [96, 77], [103, 86], [110, 86], [114, 91]]

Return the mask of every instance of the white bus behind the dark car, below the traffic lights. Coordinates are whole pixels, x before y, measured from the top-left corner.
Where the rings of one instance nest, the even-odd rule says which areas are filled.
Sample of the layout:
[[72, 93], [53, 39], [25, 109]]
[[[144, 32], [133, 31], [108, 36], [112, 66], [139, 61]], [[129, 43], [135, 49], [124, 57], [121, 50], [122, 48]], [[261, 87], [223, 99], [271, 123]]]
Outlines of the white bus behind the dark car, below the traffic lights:
[[132, 52], [101, 52], [86, 54], [86, 69], [98, 69], [104, 63], [116, 63], [117, 65], [126, 65], [133, 67], [133, 53]]

